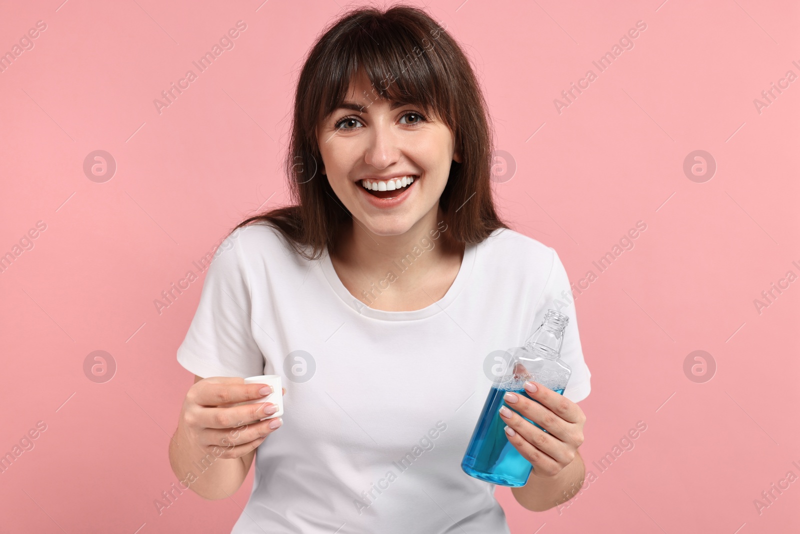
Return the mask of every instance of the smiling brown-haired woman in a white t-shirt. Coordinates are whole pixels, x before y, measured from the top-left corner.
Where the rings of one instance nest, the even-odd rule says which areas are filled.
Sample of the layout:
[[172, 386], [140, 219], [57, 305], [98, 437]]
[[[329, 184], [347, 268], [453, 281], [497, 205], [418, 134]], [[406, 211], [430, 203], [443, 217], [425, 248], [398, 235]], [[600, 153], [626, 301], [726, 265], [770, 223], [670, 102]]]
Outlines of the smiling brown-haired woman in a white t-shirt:
[[[580, 488], [590, 372], [570, 282], [498, 219], [491, 147], [470, 63], [421, 10], [351, 11], [314, 44], [286, 161], [295, 204], [227, 237], [178, 349], [195, 383], [176, 476], [222, 499], [255, 457], [234, 533], [509, 532], [494, 484], [461, 460], [487, 362], [550, 307], [570, 317], [573, 375], [563, 396], [506, 396], [508, 440], [534, 466], [513, 492], [545, 510]], [[259, 422], [271, 404], [235, 404], [270, 391], [243, 383], [263, 374], [282, 375], [285, 415]]]

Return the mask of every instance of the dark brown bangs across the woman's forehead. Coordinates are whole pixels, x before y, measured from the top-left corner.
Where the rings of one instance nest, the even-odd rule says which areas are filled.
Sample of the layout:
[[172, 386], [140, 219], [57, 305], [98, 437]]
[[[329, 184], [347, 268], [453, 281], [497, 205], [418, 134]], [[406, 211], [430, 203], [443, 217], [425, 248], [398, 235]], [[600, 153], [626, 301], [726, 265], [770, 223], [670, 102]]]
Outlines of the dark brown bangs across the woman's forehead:
[[322, 94], [320, 121], [345, 102], [350, 85], [362, 74], [371, 88], [356, 95], [369, 100], [383, 98], [434, 112], [455, 130], [451, 94], [454, 79], [437, 50], [442, 29], [420, 28], [402, 20], [372, 19], [369, 24], [351, 26], [326, 43], [328, 57], [318, 74], [326, 90]]

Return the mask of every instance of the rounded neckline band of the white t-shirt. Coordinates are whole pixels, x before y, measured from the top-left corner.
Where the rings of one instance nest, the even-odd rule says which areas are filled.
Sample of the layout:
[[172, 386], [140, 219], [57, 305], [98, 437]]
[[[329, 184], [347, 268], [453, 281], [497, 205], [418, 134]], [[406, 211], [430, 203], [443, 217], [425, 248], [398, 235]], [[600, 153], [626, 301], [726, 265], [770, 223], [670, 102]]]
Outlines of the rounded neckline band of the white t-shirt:
[[[425, 319], [431, 315], [436, 315], [440, 311], [452, 303], [462, 289], [466, 286], [470, 274], [473, 271], [475, 256], [478, 250], [478, 243], [467, 243], [464, 247], [464, 255], [461, 260], [461, 267], [458, 267], [458, 274], [455, 276], [450, 288], [446, 291], [445, 295], [438, 299], [436, 302], [431, 303], [430, 306], [423, 307], [419, 310], [410, 311], [386, 311], [376, 310], [375, 308], [367, 306], [361, 300], [357, 299], [354, 295], [350, 294], [339, 275], [334, 269], [334, 263], [330, 260], [330, 252], [325, 251], [320, 259], [320, 267], [322, 272], [330, 284], [331, 289], [338, 295], [339, 299], [347, 307], [353, 311], [372, 319], [381, 319], [384, 321], [410, 321], [414, 319]], [[395, 273], [397, 274], [397, 273]]]

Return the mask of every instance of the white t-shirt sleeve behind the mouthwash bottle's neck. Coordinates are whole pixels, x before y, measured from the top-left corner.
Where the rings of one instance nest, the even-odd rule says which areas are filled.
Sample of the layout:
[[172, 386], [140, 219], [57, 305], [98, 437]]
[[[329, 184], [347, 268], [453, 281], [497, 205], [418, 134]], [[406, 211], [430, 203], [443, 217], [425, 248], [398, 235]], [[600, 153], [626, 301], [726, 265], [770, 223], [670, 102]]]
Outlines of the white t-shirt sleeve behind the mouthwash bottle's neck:
[[577, 403], [589, 395], [591, 390], [591, 373], [586, 361], [583, 359], [583, 348], [581, 338], [578, 335], [578, 318], [575, 311], [575, 301], [572, 296], [570, 280], [566, 275], [566, 269], [558, 257], [558, 253], [553, 251], [553, 265], [550, 268], [550, 277], [545, 285], [537, 309], [536, 318], [531, 333], [542, 324], [542, 320], [549, 309], [558, 311], [570, 318], [564, 331], [564, 340], [561, 346], [561, 359], [572, 369], [570, 381], [566, 383], [564, 396], [572, 402]]

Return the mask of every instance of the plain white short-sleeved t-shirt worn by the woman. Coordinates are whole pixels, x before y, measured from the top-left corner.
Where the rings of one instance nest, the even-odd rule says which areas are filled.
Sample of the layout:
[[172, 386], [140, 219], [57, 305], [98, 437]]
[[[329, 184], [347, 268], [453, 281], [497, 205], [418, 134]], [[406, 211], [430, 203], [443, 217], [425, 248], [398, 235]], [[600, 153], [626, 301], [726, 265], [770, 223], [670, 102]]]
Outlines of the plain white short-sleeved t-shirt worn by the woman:
[[[394, 275], [437, 244], [421, 240]], [[461, 461], [494, 355], [522, 346], [550, 307], [570, 317], [564, 395], [589, 395], [571, 295], [556, 252], [508, 229], [467, 245], [446, 295], [414, 311], [366, 307], [327, 253], [308, 261], [272, 227], [230, 235], [178, 362], [203, 378], [282, 375], [286, 387], [232, 534], [510, 532], [494, 484]]]

